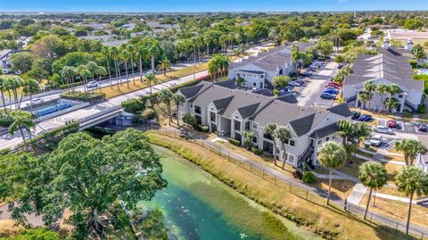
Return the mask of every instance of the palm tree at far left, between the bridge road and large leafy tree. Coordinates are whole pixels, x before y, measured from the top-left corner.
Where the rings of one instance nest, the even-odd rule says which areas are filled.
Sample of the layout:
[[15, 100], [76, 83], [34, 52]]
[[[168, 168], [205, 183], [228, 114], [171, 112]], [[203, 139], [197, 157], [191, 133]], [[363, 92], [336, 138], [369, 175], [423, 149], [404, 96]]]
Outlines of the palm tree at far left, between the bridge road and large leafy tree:
[[9, 112], [9, 116], [12, 118], [12, 124], [9, 126], [9, 133], [14, 135], [17, 130], [20, 130], [22, 141], [24, 142], [25, 151], [29, 152], [29, 146], [27, 145], [24, 132], [22, 128], [27, 129], [29, 132], [29, 137], [31, 137], [31, 128], [35, 128], [36, 124], [32, 120], [32, 115], [29, 112], [15, 110]]

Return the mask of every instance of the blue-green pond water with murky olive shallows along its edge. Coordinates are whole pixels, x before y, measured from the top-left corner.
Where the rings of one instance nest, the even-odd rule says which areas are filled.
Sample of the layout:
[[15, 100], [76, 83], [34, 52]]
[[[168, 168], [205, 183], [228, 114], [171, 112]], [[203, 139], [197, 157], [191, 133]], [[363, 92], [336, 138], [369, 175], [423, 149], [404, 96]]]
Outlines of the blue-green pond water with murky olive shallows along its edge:
[[143, 210], [164, 214], [171, 239], [321, 239], [273, 214], [176, 153], [157, 146], [168, 187]]

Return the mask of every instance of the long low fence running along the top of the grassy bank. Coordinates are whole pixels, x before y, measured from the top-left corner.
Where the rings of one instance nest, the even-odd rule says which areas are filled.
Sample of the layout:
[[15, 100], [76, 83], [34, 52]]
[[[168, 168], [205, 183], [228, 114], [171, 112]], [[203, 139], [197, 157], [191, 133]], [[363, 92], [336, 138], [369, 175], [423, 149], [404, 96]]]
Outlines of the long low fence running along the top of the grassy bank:
[[[259, 178], [263, 178], [264, 180], [285, 191], [288, 191], [291, 194], [294, 194], [312, 203], [325, 204], [327, 193], [324, 190], [307, 186], [302, 183], [292, 182], [295, 181], [295, 179], [291, 180], [290, 178], [285, 177], [281, 172], [264, 166], [257, 161], [252, 161], [248, 158], [242, 158], [239, 156], [239, 154], [226, 149], [226, 147], [222, 147], [221, 145], [213, 143], [210, 140], [204, 140], [192, 133], [184, 133], [176, 129], [160, 128], [157, 129], [157, 132], [162, 135], [185, 139], [197, 145], [202, 145], [203, 147], [210, 149], [211, 152], [217, 153], [218, 155], [224, 157], [227, 161], [230, 161], [235, 165], [243, 168], [243, 170], [248, 170]], [[342, 201], [340, 198], [331, 198], [330, 203], [334, 203], [337, 207], [356, 215], [362, 216], [365, 213], [364, 208], [347, 203], [346, 201]], [[405, 223], [389, 219], [382, 216], [381, 214], [368, 211], [366, 219], [370, 221], [370, 223], [378, 223], [393, 229], [395, 235], [397, 235], [399, 231], [406, 231]], [[428, 239], [428, 231], [426, 231], [424, 228], [418, 228], [417, 226], [410, 225], [408, 231], [412, 236], [415, 236], [416, 239]]]

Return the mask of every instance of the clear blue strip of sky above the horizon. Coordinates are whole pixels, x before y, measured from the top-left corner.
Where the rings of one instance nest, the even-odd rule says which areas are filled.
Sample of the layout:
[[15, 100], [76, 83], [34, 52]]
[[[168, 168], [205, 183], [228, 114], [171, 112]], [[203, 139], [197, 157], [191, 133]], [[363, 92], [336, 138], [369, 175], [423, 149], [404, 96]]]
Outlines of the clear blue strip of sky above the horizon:
[[0, 0], [0, 12], [428, 10], [428, 0]]

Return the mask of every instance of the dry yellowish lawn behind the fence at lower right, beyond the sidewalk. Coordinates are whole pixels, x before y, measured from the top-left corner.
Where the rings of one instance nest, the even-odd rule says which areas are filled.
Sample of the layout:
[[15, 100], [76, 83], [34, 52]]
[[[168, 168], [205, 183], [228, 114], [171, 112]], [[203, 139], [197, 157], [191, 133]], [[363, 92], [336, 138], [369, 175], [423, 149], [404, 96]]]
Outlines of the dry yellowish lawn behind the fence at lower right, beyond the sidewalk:
[[[368, 196], [366, 195], [360, 206], [366, 207]], [[373, 201], [373, 199], [371, 200]], [[373, 202], [372, 202], [373, 203]], [[370, 204], [370, 211], [378, 212], [383, 215], [389, 216], [392, 219], [407, 220], [407, 210], [408, 203], [403, 203], [399, 201], [393, 201], [389, 199], [384, 199], [376, 197], [376, 206], [372, 207]], [[428, 222], [426, 221], [428, 209], [419, 206], [417, 204], [412, 205], [412, 216], [410, 221], [414, 224], [420, 225], [424, 228], [428, 227]]]

